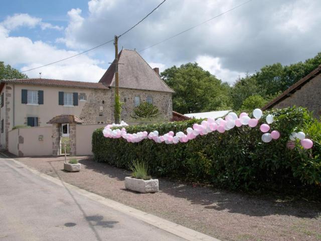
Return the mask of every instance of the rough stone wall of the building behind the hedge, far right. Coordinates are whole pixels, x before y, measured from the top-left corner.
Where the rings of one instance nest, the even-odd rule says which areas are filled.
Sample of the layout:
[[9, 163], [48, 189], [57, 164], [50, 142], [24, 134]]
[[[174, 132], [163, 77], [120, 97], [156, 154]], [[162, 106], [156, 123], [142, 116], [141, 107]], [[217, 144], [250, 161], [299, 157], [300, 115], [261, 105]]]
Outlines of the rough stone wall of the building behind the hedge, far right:
[[285, 108], [289, 106], [302, 106], [313, 111], [313, 116], [320, 118], [321, 115], [321, 74], [305, 83], [299, 90], [287, 98], [281, 100], [273, 108]]

